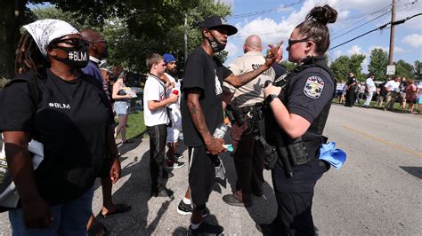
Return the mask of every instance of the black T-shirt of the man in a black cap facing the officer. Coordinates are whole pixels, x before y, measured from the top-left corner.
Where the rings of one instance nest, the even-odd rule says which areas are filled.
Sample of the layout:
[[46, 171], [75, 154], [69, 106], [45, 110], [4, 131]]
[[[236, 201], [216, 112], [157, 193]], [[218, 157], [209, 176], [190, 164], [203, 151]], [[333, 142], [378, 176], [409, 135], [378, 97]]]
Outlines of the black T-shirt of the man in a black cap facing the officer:
[[214, 133], [217, 125], [223, 123], [223, 78], [231, 75], [219, 59], [211, 57], [201, 47], [191, 52], [184, 67], [183, 98], [181, 101], [182, 127], [186, 146], [203, 146], [204, 140], [192, 122], [187, 106], [189, 89], [200, 89], [199, 104], [204, 113], [209, 132]]

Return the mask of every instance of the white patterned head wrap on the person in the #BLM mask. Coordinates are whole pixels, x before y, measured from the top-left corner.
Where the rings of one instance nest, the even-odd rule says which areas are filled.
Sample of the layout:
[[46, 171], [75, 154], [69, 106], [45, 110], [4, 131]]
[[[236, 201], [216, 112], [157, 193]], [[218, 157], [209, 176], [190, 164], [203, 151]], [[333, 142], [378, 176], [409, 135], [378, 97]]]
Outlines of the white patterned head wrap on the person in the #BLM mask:
[[63, 20], [45, 19], [37, 20], [24, 26], [29, 34], [32, 35], [34, 41], [37, 43], [39, 51], [46, 57], [46, 46], [56, 38], [61, 38], [65, 35], [79, 34], [76, 28]]

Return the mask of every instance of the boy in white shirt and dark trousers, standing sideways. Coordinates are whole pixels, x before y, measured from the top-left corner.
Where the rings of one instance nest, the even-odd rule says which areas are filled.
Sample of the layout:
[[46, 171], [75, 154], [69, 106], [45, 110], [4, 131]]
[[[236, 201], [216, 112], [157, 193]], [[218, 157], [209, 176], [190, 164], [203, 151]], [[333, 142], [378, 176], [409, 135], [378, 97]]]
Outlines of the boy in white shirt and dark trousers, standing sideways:
[[164, 169], [166, 126], [170, 122], [167, 106], [177, 102], [179, 96], [171, 94], [167, 98], [166, 83], [159, 79], [166, 69], [163, 57], [153, 53], [147, 57], [146, 62], [150, 75], [143, 90], [143, 100], [146, 104], [143, 118], [150, 136], [151, 196], [165, 197], [170, 192], [166, 189], [164, 180], [171, 177]]

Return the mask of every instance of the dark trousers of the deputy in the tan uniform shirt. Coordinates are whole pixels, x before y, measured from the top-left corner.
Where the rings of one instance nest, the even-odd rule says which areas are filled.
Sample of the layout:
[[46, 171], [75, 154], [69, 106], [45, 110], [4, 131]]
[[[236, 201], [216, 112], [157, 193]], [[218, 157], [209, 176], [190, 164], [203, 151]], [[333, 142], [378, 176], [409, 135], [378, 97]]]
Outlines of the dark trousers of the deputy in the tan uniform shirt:
[[247, 134], [248, 122], [242, 126], [231, 126], [231, 140], [234, 147], [234, 167], [238, 180], [236, 190], [242, 191], [244, 203], [250, 203], [252, 193], [262, 194], [264, 183], [264, 155], [253, 134]]

